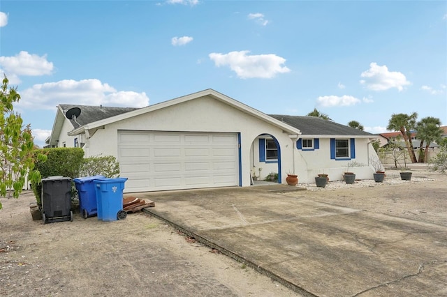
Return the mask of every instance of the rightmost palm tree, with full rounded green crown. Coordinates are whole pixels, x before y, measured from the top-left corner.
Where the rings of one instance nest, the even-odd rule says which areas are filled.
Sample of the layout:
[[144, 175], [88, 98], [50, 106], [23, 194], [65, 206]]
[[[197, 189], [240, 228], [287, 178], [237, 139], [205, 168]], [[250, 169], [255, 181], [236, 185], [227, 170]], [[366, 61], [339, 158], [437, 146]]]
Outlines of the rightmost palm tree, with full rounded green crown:
[[[441, 138], [442, 129], [441, 120], [438, 118], [434, 118], [433, 116], [427, 116], [421, 119], [416, 124], [416, 137], [420, 139], [420, 147], [419, 147], [419, 162], [426, 162], [428, 155], [428, 148], [430, 144]], [[422, 154], [423, 151], [423, 143], [425, 142], [425, 154]]]

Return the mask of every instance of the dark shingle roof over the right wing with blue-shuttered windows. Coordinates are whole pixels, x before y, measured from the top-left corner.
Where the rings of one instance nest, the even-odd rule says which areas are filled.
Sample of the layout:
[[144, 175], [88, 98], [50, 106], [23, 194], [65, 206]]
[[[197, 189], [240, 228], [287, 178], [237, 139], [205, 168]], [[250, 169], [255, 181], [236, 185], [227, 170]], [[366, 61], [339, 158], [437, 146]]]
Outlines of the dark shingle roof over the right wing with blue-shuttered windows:
[[286, 116], [281, 114], [269, 114], [272, 118], [287, 123], [301, 130], [302, 135], [346, 135], [369, 136], [373, 134], [351, 128], [347, 125], [324, 120], [316, 116]]

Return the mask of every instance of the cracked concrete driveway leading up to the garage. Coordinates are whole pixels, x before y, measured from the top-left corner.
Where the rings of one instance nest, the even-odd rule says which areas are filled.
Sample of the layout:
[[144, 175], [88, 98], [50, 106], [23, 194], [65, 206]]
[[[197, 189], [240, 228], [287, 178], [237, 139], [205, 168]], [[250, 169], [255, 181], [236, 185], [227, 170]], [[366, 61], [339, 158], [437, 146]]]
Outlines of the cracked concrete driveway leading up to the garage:
[[325, 204], [289, 189], [138, 197], [155, 202], [146, 208], [152, 215], [305, 296], [447, 296], [447, 227]]

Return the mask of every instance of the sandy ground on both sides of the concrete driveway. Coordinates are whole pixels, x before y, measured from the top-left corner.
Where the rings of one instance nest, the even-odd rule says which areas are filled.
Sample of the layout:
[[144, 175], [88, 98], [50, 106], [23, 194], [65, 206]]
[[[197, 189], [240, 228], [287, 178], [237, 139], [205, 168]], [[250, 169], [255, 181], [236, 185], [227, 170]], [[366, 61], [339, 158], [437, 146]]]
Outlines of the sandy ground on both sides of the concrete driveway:
[[[286, 195], [447, 226], [447, 176], [426, 170]], [[32, 201], [1, 198], [0, 296], [300, 296], [144, 213], [42, 224]]]

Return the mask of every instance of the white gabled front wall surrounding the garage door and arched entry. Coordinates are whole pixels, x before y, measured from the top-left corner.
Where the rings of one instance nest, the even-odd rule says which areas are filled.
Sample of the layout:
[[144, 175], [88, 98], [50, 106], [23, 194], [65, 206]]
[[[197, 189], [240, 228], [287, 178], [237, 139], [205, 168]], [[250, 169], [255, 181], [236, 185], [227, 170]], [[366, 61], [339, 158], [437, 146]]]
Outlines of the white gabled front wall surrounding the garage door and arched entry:
[[[106, 125], [87, 140], [85, 156], [117, 158], [118, 130], [240, 133], [242, 186], [250, 185], [251, 144], [258, 135], [273, 135], [281, 146], [282, 160], [293, 160], [293, 142], [281, 129], [214, 98], [198, 98]], [[283, 183], [286, 170], [282, 170]], [[263, 174], [268, 173], [268, 169], [263, 170]]]

